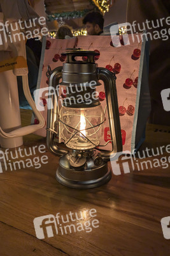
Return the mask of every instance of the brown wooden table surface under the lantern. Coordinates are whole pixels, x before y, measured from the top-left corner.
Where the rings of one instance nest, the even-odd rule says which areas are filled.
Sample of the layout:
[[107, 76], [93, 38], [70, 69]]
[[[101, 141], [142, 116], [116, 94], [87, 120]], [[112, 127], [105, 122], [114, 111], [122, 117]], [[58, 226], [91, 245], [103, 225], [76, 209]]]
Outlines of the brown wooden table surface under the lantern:
[[[23, 114], [24, 120], [29, 120], [30, 113]], [[156, 128], [148, 125], [142, 148], [170, 144], [168, 127], [167, 132], [154, 132]], [[41, 144], [45, 139], [34, 134], [24, 138], [25, 148]], [[113, 175], [104, 186], [80, 190], [59, 184], [55, 179], [59, 157], [47, 149], [45, 155], [48, 163], [39, 169], [0, 173], [1, 256], [170, 255], [170, 239], [164, 238], [160, 225], [163, 217], [170, 216], [170, 168]], [[42, 240], [36, 237], [34, 218], [90, 209], [96, 209], [99, 220], [99, 227], [92, 232], [59, 233]]]

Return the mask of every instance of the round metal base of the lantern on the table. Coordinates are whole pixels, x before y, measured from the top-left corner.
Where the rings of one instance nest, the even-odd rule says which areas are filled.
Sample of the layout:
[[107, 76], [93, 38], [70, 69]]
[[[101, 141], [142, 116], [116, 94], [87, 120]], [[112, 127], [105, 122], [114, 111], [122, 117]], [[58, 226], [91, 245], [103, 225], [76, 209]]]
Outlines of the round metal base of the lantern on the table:
[[[62, 159], [61, 157], [60, 165], [56, 172], [57, 180], [64, 186], [78, 189], [96, 188], [106, 184], [111, 179], [111, 170], [105, 162], [101, 163], [100, 166], [93, 166], [91, 169], [88, 168], [90, 164], [87, 164], [87, 168], [75, 170], [70, 168], [66, 158]], [[63, 160], [65, 160], [65, 163]], [[93, 162], [92, 159], [90, 161], [91, 163]], [[64, 163], [64, 166], [62, 163]]]

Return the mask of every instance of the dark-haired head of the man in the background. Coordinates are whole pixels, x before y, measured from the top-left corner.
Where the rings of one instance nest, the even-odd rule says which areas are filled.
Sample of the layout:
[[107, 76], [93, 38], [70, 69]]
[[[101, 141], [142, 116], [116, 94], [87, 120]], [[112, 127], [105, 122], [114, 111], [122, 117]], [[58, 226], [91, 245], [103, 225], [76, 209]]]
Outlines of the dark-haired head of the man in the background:
[[87, 34], [90, 36], [99, 36], [103, 34], [104, 18], [100, 12], [92, 11], [83, 18], [83, 24], [86, 25]]

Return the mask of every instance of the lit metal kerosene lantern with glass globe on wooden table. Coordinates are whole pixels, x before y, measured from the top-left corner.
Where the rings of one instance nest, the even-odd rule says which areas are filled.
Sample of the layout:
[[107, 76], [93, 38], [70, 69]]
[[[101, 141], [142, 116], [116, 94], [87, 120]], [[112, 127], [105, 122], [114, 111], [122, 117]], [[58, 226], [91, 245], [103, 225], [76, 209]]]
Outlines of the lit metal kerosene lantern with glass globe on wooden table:
[[[95, 188], [108, 182], [111, 179], [108, 161], [122, 151], [115, 74], [97, 67], [97, 55], [99, 53], [95, 51], [67, 49], [62, 54], [66, 58], [63, 67], [54, 70], [48, 67], [46, 74], [50, 80], [49, 88], [66, 88], [61, 106], [59, 96], [49, 93], [52, 106], [48, 105], [46, 142], [50, 152], [60, 156], [57, 180], [70, 188]], [[104, 146], [100, 145], [100, 140], [106, 121], [106, 111], [96, 92], [97, 86], [101, 85], [99, 80], [104, 82], [106, 93], [111, 134], [108, 143], [112, 144], [110, 152], [98, 149]], [[87, 95], [90, 95], [88, 100]]]

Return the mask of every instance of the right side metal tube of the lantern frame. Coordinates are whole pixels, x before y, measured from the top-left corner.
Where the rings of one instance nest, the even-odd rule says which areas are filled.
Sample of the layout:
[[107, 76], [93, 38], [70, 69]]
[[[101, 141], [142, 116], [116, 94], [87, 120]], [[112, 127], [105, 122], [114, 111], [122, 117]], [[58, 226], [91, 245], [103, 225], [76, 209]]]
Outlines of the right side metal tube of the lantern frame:
[[101, 152], [99, 153], [99, 156], [101, 156], [104, 161], [110, 161], [118, 152], [122, 152], [122, 135], [118, 113], [117, 87], [115, 82], [116, 77], [114, 73], [106, 68], [97, 68], [97, 76], [99, 80], [104, 82], [112, 143], [112, 150]]

